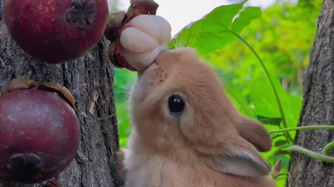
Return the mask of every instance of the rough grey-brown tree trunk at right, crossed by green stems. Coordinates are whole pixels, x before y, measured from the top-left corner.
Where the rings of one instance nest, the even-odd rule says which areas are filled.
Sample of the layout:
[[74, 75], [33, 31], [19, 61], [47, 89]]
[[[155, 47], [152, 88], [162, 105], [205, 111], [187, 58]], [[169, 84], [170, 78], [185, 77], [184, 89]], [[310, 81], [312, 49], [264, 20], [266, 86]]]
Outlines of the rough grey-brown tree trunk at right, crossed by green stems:
[[[334, 123], [334, 1], [324, 0], [304, 80], [303, 106], [298, 126]], [[305, 130], [295, 144], [322, 153], [334, 140], [333, 130]], [[330, 151], [329, 156], [334, 156]], [[333, 187], [334, 164], [293, 153], [286, 187]]]

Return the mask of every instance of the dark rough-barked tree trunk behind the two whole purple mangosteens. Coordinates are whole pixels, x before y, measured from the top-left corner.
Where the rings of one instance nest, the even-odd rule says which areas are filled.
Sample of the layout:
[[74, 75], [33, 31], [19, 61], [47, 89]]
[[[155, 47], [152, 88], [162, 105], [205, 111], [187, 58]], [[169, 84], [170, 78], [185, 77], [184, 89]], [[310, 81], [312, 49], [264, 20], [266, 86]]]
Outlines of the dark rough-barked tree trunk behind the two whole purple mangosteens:
[[[27, 55], [15, 43], [5, 25], [0, 0], [0, 90], [12, 79], [56, 81], [76, 99], [81, 125], [80, 147], [71, 165], [56, 177], [66, 187], [116, 187], [115, 151], [119, 149], [114, 103], [114, 69], [108, 59], [109, 42], [103, 38], [86, 56], [50, 65]], [[41, 187], [0, 181], [0, 187]]]

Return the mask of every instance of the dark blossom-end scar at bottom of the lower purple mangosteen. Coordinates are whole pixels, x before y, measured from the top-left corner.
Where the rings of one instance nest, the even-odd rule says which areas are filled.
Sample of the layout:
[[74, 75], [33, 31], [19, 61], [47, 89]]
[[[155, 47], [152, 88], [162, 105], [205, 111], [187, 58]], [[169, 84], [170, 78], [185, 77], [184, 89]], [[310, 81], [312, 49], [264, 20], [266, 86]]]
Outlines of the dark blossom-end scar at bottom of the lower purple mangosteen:
[[43, 169], [43, 163], [35, 154], [24, 155], [18, 153], [9, 158], [9, 164], [6, 165], [6, 169], [8, 173], [18, 179], [30, 179], [40, 174]]

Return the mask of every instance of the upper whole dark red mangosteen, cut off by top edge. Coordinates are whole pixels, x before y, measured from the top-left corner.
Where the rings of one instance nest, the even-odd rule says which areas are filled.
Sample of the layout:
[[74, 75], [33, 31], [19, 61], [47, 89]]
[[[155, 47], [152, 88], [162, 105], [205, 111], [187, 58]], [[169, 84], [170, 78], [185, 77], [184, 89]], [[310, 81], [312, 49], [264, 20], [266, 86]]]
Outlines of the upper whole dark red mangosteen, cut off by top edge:
[[5, 0], [5, 22], [32, 57], [57, 64], [75, 60], [102, 39], [107, 0]]

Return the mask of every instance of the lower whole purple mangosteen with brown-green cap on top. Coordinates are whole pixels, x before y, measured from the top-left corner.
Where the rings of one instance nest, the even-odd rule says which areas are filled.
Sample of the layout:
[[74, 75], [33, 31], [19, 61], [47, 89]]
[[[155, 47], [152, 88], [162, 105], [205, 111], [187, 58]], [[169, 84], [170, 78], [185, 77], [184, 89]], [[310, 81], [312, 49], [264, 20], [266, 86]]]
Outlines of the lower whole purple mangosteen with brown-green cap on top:
[[58, 83], [9, 82], [0, 96], [0, 178], [32, 184], [64, 171], [80, 143], [74, 107]]

